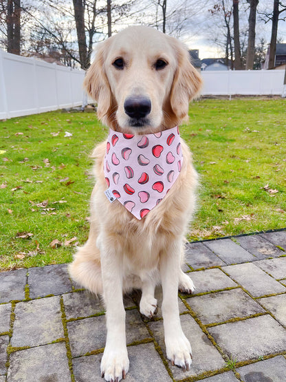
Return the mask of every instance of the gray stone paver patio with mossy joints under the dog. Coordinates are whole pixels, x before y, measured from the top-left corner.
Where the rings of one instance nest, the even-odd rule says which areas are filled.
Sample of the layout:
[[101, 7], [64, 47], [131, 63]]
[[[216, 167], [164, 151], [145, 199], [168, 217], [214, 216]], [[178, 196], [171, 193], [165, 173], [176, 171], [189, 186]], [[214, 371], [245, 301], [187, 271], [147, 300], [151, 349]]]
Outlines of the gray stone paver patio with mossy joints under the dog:
[[[286, 230], [187, 244], [186, 264], [190, 371], [166, 359], [161, 310], [141, 317], [133, 293], [126, 382], [286, 381]], [[102, 381], [104, 321], [102, 301], [72, 284], [66, 264], [0, 273], [0, 382]]]

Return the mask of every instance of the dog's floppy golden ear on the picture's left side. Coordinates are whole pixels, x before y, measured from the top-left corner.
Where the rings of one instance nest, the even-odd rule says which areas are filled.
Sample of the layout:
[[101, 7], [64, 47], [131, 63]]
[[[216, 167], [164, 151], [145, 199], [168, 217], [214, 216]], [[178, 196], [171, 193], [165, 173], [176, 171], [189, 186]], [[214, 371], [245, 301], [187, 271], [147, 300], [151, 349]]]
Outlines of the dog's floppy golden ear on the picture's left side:
[[98, 46], [94, 62], [87, 70], [83, 82], [87, 94], [98, 103], [97, 114], [100, 120], [104, 117], [108, 118], [109, 109], [111, 109], [111, 89], [104, 71], [104, 49], [106, 45], [107, 41], [104, 41]]

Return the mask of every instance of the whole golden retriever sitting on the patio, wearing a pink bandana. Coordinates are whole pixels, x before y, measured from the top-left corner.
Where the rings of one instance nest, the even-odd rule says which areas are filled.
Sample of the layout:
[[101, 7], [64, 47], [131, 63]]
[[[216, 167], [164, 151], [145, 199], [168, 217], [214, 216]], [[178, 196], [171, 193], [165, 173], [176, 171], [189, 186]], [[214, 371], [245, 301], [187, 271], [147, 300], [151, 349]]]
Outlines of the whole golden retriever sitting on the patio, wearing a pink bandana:
[[[78, 284], [104, 299], [107, 340], [102, 377], [120, 381], [129, 370], [122, 295], [141, 289], [140, 312], [152, 317], [157, 284], [163, 290], [166, 355], [173, 365], [189, 370], [192, 351], [181, 329], [177, 291], [194, 290], [181, 265], [197, 173], [177, 126], [188, 116], [188, 104], [198, 94], [201, 78], [182, 43], [137, 26], [100, 43], [84, 85], [98, 103], [98, 118], [109, 127], [109, 140], [94, 149], [96, 185], [89, 238], [78, 248], [69, 272]], [[173, 151], [172, 145], [176, 145]], [[127, 166], [131, 152], [133, 159]], [[113, 189], [124, 176], [122, 191]], [[140, 187], [151, 186], [142, 191], [131, 180]], [[173, 182], [171, 187], [168, 182]], [[121, 201], [120, 193], [126, 194]], [[153, 204], [145, 208], [144, 203]]]

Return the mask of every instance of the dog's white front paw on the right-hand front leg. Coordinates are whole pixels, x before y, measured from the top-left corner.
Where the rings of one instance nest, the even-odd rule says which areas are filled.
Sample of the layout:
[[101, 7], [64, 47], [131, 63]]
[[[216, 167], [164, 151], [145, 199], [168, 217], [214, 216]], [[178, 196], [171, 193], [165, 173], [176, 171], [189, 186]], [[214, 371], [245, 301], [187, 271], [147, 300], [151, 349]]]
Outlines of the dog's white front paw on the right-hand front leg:
[[172, 365], [179, 366], [184, 372], [190, 370], [190, 365], [192, 364], [192, 348], [184, 333], [181, 333], [178, 337], [165, 339], [165, 343], [167, 357], [170, 359]]

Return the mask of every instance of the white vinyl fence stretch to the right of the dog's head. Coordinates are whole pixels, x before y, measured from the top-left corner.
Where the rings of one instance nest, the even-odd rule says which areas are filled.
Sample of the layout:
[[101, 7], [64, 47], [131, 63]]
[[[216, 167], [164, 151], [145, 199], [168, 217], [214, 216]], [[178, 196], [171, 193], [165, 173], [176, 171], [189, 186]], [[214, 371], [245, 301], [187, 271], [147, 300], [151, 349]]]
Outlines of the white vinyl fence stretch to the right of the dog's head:
[[281, 96], [284, 74], [285, 70], [202, 71], [202, 95]]

